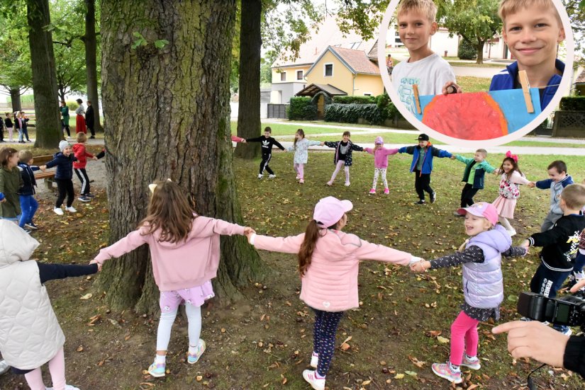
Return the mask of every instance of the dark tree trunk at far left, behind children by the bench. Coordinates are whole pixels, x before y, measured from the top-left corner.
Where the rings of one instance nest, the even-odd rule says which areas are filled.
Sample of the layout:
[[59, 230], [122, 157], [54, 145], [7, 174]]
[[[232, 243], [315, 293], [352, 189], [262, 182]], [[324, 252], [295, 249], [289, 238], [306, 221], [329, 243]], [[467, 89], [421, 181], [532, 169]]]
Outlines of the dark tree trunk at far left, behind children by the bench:
[[30, 66], [35, 95], [35, 147], [55, 148], [62, 139], [57, 76], [48, 0], [26, 0]]

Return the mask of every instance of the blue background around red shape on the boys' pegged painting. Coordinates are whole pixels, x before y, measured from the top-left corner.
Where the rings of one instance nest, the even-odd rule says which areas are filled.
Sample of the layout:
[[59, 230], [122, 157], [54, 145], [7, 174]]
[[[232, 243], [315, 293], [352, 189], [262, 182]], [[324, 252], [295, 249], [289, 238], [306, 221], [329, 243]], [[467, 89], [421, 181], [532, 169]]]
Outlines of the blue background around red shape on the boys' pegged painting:
[[[490, 91], [488, 92], [494, 101], [498, 103], [500, 106], [504, 117], [508, 121], [508, 134], [516, 132], [520, 130], [528, 123], [532, 122], [532, 120], [540, 114], [540, 96], [538, 93], [538, 88], [530, 88], [530, 96], [532, 97], [533, 105], [534, 105], [534, 113], [528, 113], [526, 111], [526, 104], [524, 103], [524, 94], [522, 93], [521, 89], [506, 89], [503, 91]], [[435, 96], [433, 95], [426, 95], [426, 96], [419, 96], [420, 101], [420, 108], [425, 112], [425, 107], [433, 100]], [[414, 105], [414, 96], [413, 99], [413, 107]], [[422, 122], [423, 115], [414, 112], [414, 115], [418, 120]], [[478, 118], [481, 120], [481, 118]]]

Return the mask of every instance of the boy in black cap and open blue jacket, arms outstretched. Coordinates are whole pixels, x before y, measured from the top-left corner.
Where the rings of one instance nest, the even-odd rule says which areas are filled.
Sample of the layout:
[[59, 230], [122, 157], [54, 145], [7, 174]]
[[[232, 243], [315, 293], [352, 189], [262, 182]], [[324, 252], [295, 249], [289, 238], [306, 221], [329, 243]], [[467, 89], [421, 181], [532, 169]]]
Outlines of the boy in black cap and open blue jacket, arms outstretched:
[[418, 136], [418, 145], [412, 147], [401, 147], [398, 149], [399, 153], [408, 153], [413, 155], [413, 162], [411, 164], [411, 172], [415, 173], [414, 188], [418, 195], [418, 202], [416, 205], [425, 205], [425, 192], [430, 197], [430, 202], [434, 203], [437, 200], [437, 193], [430, 187], [430, 173], [433, 171], [433, 157], [451, 157], [446, 150], [441, 150], [433, 147], [430, 144], [427, 134], [420, 134]]

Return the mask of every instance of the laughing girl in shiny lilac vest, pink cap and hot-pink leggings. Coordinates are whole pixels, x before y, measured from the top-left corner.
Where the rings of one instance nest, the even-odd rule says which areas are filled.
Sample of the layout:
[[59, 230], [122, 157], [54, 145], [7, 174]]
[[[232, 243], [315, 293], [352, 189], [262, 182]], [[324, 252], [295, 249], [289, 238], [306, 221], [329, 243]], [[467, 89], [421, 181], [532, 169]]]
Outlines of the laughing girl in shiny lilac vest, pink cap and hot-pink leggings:
[[460, 366], [479, 369], [477, 324], [493, 317], [499, 318], [503, 300], [502, 256], [525, 256], [526, 248], [511, 246], [510, 234], [498, 225], [498, 210], [491, 203], [478, 202], [457, 210], [465, 216], [466, 240], [459, 251], [430, 261], [411, 265], [411, 270], [423, 272], [429, 268], [463, 265], [463, 294], [465, 302], [457, 319], [451, 324], [451, 355], [447, 363], [431, 367], [439, 377], [461, 383]]

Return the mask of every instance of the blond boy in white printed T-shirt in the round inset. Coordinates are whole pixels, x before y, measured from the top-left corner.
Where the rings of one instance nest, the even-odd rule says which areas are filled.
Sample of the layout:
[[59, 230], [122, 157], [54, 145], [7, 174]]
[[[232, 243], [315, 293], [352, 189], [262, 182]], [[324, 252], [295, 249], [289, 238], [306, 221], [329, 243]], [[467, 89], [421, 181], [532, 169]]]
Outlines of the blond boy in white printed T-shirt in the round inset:
[[413, 84], [418, 85], [420, 95], [438, 95], [447, 82], [455, 83], [450, 64], [428, 45], [430, 36], [438, 30], [436, 16], [433, 0], [402, 0], [396, 9], [399, 36], [410, 57], [392, 70], [392, 85], [412, 113]]

